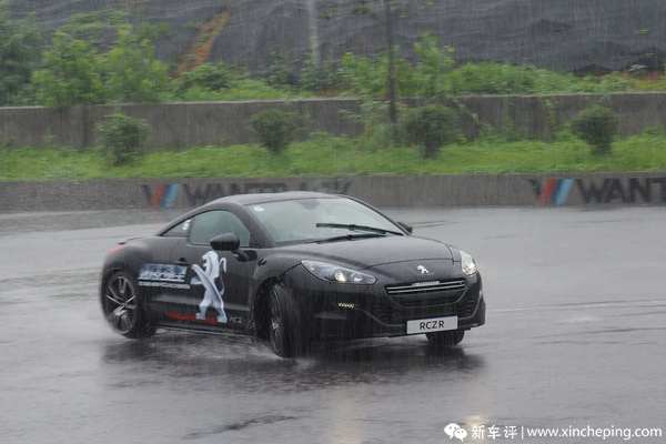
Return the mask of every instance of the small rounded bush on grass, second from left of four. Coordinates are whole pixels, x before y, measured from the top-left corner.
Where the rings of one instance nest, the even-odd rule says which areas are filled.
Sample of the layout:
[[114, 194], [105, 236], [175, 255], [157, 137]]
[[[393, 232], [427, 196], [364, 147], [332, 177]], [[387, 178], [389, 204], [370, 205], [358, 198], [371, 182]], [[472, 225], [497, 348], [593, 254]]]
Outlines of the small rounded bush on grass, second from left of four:
[[248, 124], [262, 145], [280, 154], [294, 140], [299, 118], [293, 112], [270, 109], [252, 115]]

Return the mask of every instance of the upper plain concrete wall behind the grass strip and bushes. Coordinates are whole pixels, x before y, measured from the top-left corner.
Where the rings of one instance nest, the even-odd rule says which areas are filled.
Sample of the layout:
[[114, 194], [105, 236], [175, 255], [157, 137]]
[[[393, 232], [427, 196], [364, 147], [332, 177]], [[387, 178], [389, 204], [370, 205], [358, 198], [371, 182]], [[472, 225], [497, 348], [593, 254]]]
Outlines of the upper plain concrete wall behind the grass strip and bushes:
[[[567, 122], [581, 110], [599, 101], [622, 114], [620, 134], [646, 128], [666, 128], [666, 93], [505, 95], [457, 98], [480, 124], [502, 132], [517, 131], [547, 140], [552, 125]], [[408, 105], [423, 99], [405, 99]], [[329, 132], [355, 137], [363, 125], [345, 118], [360, 113], [356, 99], [312, 99], [293, 101], [196, 102], [71, 107], [49, 111], [42, 107], [0, 108], [0, 142], [6, 147], [71, 147], [94, 144], [94, 125], [104, 115], [122, 112], [145, 119], [152, 128], [149, 144], [155, 148], [248, 143], [252, 135], [245, 122], [268, 108], [291, 109], [303, 115], [303, 133]], [[473, 133], [470, 119], [463, 119], [466, 133]]]

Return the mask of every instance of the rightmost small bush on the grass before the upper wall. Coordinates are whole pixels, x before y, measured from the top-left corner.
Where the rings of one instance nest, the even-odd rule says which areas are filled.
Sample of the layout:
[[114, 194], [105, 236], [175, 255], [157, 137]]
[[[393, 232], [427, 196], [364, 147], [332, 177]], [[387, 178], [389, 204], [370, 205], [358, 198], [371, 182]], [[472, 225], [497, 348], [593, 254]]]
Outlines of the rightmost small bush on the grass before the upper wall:
[[610, 153], [610, 144], [617, 135], [619, 115], [605, 107], [581, 111], [572, 122], [572, 132], [592, 147], [595, 154]]

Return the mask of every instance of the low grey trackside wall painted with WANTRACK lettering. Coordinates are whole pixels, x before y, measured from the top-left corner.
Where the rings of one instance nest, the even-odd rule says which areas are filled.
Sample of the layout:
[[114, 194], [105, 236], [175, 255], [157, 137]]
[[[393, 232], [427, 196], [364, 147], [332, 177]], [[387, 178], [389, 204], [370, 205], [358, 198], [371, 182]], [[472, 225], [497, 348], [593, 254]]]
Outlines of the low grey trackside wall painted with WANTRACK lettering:
[[664, 205], [664, 173], [0, 182], [0, 213], [191, 209], [239, 193], [343, 193], [376, 206]]

